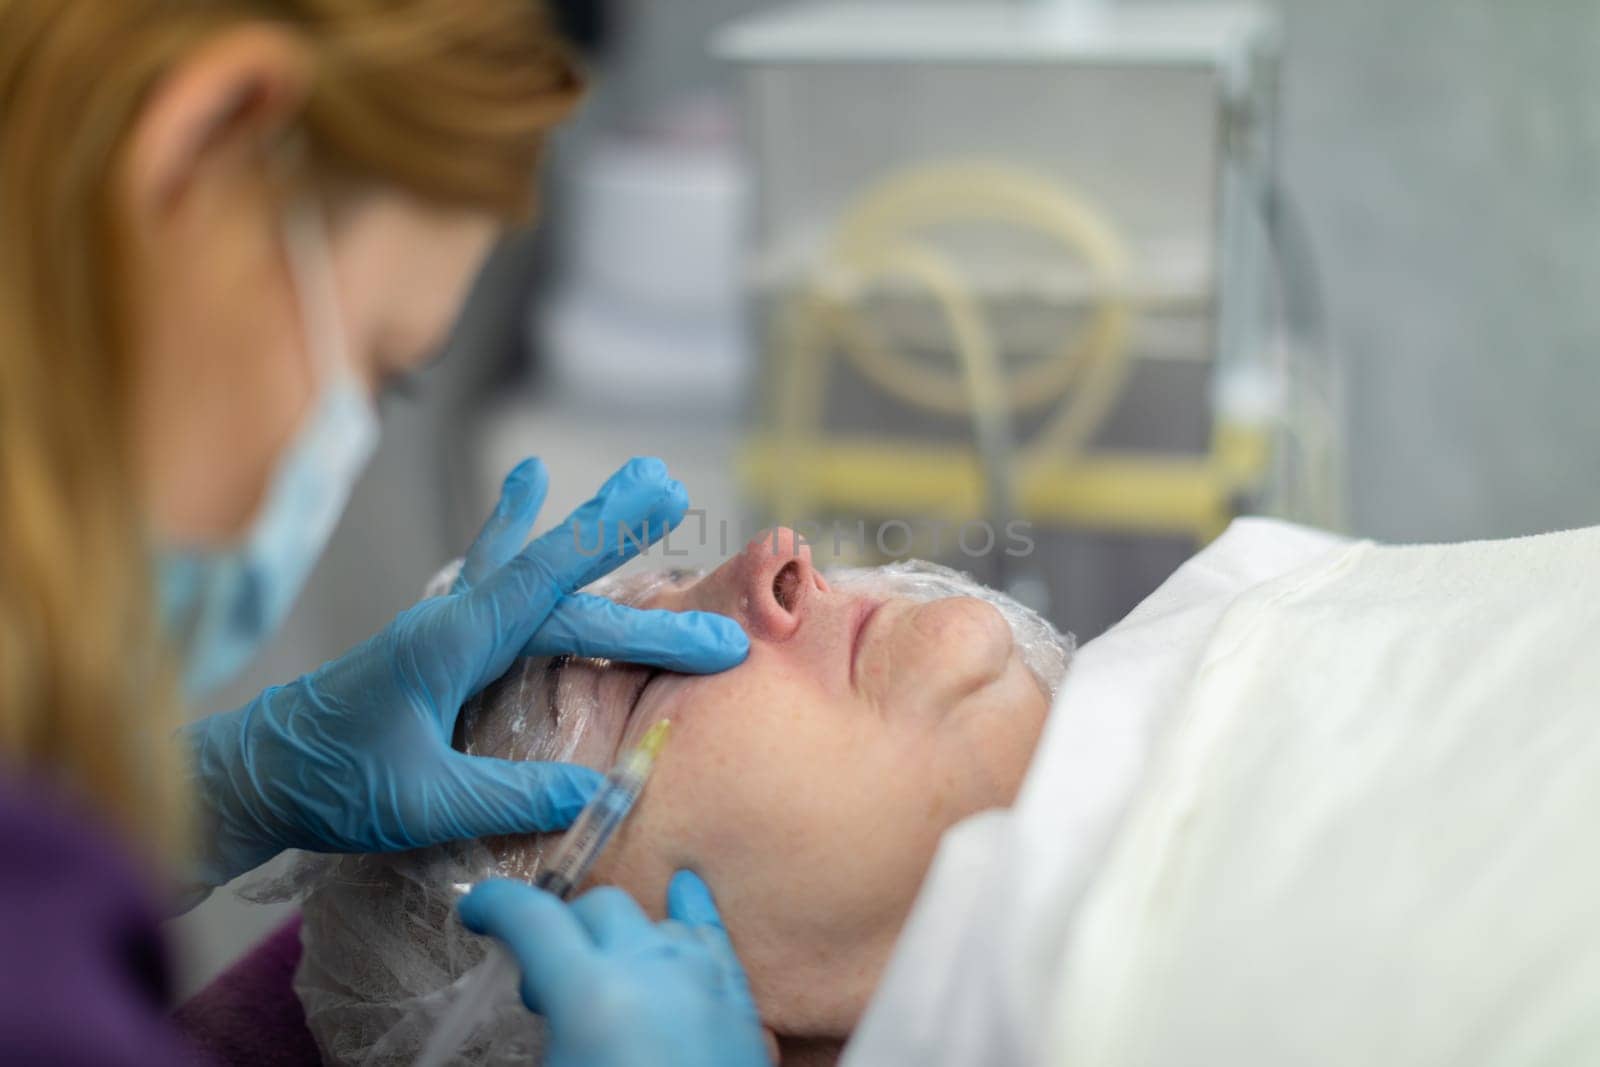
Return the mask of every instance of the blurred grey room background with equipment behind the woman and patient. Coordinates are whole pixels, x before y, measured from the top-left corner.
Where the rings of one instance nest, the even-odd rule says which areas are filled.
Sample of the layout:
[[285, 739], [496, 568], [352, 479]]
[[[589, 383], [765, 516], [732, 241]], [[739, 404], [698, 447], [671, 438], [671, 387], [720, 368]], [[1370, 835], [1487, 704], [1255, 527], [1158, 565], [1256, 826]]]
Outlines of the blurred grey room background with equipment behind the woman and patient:
[[[1600, 5], [562, 6], [594, 93], [541, 226], [218, 707], [414, 600], [525, 454], [549, 522], [658, 454], [693, 561], [811, 522], [1080, 640], [1240, 512], [1600, 522]], [[278, 918], [179, 920], [184, 990]]]

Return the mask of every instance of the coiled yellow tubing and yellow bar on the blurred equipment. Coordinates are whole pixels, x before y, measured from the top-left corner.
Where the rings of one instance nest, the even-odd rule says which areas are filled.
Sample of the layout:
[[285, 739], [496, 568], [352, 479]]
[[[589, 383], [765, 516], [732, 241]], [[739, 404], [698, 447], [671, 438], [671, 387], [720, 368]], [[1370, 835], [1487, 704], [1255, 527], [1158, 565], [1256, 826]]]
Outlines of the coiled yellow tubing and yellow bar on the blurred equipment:
[[[1082, 258], [1098, 296], [1086, 330], [1058, 354], [1011, 374], [1000, 365], [979, 296], [949, 254], [918, 240], [920, 230], [973, 221], [1048, 235]], [[870, 286], [896, 274], [926, 288], [942, 312], [958, 374], [939, 373], [899, 352], [862, 314]], [[1262, 438], [1230, 438], [1219, 426], [1211, 456], [1080, 456], [1126, 381], [1133, 314], [1128, 274], [1128, 253], [1110, 224], [1066, 189], [1026, 171], [957, 163], [880, 182], [843, 214], [824, 262], [779, 310], [770, 397], [776, 434], [750, 451], [747, 485], [770, 486], [770, 502], [786, 520], [805, 517], [816, 498], [882, 515], [891, 502], [906, 514], [930, 507], [942, 514], [949, 509], [941, 504], [952, 496], [966, 501], [976, 494], [963, 510], [978, 514], [986, 499], [984, 467], [971, 450], [842, 448], [821, 438], [824, 389], [837, 347], [864, 378], [902, 403], [973, 418], [981, 446], [986, 434], [989, 442], [1008, 440], [1013, 413], [1056, 405], [1034, 440], [1014, 451], [1014, 470], [1006, 472], [1005, 485], [990, 486], [990, 509], [995, 501], [1010, 501], [1030, 518], [1214, 536], [1230, 515], [1234, 496], [1266, 462]], [[1250, 442], [1242, 446], [1245, 437]]]

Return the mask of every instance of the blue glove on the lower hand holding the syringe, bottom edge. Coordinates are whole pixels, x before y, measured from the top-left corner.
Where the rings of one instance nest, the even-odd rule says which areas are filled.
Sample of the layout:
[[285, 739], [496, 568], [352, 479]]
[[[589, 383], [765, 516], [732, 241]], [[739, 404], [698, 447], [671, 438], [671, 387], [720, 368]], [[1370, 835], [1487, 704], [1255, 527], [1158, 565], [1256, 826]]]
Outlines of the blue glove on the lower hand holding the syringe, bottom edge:
[[667, 921], [624, 891], [571, 905], [496, 878], [462, 897], [461, 921], [522, 968], [522, 1000], [549, 1024], [547, 1067], [765, 1067], [750, 984], [706, 883], [680, 870]]

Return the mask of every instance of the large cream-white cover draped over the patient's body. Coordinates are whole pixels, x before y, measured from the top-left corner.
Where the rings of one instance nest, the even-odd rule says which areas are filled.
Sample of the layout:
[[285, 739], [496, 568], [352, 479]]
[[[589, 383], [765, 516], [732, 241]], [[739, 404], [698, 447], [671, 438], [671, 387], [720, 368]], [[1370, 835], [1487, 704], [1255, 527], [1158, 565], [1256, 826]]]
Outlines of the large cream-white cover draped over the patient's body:
[[1597, 645], [1600, 528], [1240, 598], [1032, 1019], [1051, 1062], [1600, 1062]]

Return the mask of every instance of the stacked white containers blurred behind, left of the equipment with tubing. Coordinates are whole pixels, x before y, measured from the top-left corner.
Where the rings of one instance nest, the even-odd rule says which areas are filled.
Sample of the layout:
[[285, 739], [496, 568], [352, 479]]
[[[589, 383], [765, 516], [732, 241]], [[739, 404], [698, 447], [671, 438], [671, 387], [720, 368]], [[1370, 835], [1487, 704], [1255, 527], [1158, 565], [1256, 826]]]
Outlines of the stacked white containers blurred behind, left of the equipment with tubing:
[[738, 408], [749, 213], [733, 126], [723, 106], [680, 101], [557, 165], [563, 248], [530, 341], [563, 403]]

